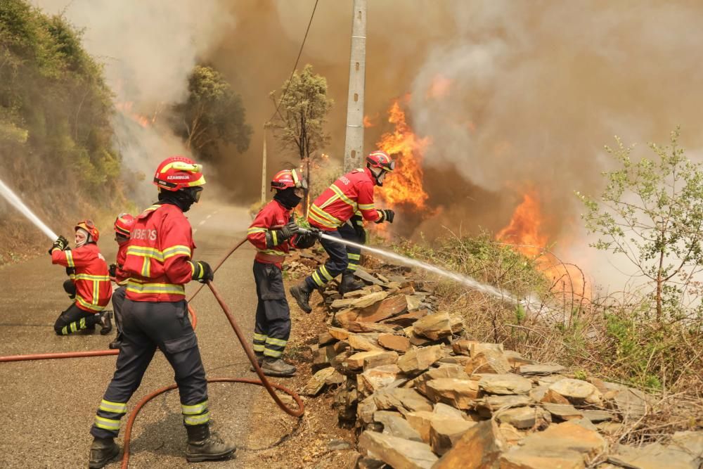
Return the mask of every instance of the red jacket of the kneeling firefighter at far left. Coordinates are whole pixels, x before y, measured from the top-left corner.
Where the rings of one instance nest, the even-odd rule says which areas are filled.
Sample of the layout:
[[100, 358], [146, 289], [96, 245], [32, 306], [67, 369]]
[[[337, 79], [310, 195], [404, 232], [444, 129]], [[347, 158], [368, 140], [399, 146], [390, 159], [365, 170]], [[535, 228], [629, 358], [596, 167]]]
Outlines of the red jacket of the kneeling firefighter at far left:
[[99, 313], [108, 306], [112, 286], [108, 264], [98, 245], [86, 243], [72, 251], [55, 249], [51, 251], [51, 264], [75, 267], [76, 274], [71, 279], [76, 285], [77, 307], [89, 313]]

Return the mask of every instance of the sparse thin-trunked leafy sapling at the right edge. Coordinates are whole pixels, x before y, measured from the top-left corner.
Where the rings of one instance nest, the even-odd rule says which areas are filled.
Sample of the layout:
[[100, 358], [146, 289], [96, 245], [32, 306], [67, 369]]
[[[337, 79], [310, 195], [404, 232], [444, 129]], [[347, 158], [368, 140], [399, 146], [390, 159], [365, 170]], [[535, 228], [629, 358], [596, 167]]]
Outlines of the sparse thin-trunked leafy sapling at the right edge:
[[649, 144], [654, 158], [633, 162], [633, 146], [616, 137], [617, 147], [605, 149], [619, 169], [603, 173], [600, 202], [576, 193], [586, 228], [600, 236], [593, 246], [626, 256], [654, 285], [657, 321], [681, 311], [703, 269], [703, 167], [685, 157], [678, 139], [676, 129], [669, 145]]

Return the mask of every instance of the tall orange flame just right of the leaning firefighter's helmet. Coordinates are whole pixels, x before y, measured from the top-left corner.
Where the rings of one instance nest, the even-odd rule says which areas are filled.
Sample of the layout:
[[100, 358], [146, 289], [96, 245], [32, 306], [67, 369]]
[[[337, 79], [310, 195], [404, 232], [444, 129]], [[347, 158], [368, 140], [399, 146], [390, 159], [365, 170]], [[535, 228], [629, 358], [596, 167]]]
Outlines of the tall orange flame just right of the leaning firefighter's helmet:
[[[406, 96], [405, 100], [408, 98]], [[396, 169], [383, 182], [379, 191], [380, 198], [390, 207], [406, 205], [414, 210], [423, 209], [428, 195], [423, 188], [421, 164], [431, 139], [420, 139], [413, 133], [398, 99], [393, 101], [388, 110], [388, 122], [394, 124], [395, 129], [383, 134], [376, 146], [394, 158]]]

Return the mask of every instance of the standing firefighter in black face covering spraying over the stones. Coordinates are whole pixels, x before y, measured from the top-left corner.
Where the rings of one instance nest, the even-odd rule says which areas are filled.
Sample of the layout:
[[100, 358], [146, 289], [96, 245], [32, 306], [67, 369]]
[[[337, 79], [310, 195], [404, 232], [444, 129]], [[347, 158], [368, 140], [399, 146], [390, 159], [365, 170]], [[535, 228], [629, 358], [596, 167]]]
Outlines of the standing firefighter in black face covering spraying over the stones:
[[[295, 366], [280, 356], [290, 336], [290, 309], [283, 289], [281, 266], [290, 248], [309, 248], [313, 233], [297, 234], [293, 209], [300, 203], [307, 181], [295, 170], [284, 169], [273, 176], [273, 200], [257, 214], [247, 238], [257, 248], [254, 281], [257, 284], [257, 319], [254, 326], [254, 354], [266, 375], [290, 376]], [[253, 370], [253, 367], [252, 367]]]

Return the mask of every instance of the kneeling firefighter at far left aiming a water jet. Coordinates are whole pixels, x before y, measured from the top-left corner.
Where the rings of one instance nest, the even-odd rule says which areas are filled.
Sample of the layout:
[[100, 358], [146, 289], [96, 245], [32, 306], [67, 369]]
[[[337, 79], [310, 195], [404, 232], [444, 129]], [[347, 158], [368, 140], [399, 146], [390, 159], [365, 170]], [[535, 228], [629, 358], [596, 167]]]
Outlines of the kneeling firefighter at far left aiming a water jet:
[[110, 311], [103, 310], [110, 302], [112, 287], [108, 264], [96, 244], [100, 232], [91, 220], [79, 221], [75, 231], [74, 250], [70, 250], [63, 236], [59, 236], [49, 250], [51, 263], [66, 267], [71, 279], [64, 283], [64, 288], [72, 299], [75, 298], [75, 303], [58, 316], [53, 330], [58, 335], [69, 335], [101, 324], [100, 333], [109, 334], [112, 330]]

